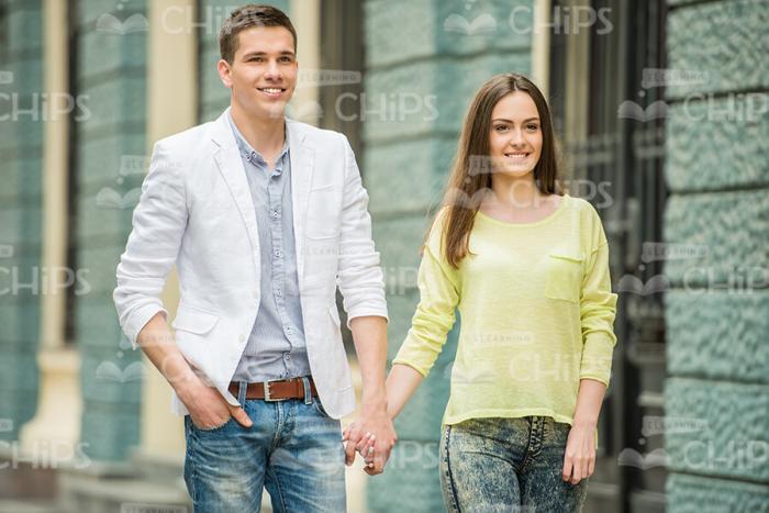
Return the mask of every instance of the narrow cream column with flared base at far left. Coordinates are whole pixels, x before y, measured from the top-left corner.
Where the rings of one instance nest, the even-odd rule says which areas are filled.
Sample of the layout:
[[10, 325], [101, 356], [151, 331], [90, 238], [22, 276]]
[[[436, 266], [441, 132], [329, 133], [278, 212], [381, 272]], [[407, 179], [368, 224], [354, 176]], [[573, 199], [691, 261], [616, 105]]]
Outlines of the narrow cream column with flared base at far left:
[[[67, 57], [67, 10], [57, 0], [44, 2], [45, 91], [58, 98], [45, 122], [43, 142], [43, 254], [42, 267], [55, 278], [55, 286], [41, 294], [40, 400], [35, 417], [24, 425], [21, 443], [26, 454], [44, 444], [52, 446], [56, 464], [75, 455], [80, 438], [82, 402], [79, 390], [80, 357], [65, 342], [66, 299], [70, 287], [78, 287], [77, 269], [67, 267], [68, 143], [69, 119], [64, 109], [69, 97]], [[74, 278], [75, 282], [68, 285]]]

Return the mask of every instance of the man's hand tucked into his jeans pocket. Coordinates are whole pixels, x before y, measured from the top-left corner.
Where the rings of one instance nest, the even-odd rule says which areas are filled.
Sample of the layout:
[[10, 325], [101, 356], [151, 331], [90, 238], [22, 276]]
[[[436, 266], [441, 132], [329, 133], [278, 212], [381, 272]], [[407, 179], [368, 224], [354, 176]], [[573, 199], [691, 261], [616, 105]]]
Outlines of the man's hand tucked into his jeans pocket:
[[207, 386], [200, 378], [188, 380], [177, 393], [190, 411], [192, 424], [200, 430], [223, 426], [231, 416], [244, 427], [254, 425], [243, 408], [231, 405], [216, 389]]

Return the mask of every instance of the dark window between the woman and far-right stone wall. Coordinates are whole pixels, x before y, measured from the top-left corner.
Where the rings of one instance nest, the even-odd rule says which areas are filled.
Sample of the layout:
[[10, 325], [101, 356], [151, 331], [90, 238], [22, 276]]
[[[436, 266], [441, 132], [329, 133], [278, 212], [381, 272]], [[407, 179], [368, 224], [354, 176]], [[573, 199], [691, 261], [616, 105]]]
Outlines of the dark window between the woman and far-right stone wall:
[[[553, 5], [568, 10], [573, 2], [555, 0]], [[594, 12], [603, 10], [613, 29], [600, 33], [595, 26], [589, 37], [553, 35], [549, 93], [569, 163], [567, 177], [575, 179], [569, 189], [590, 200], [601, 214], [616, 291], [623, 277], [645, 285], [661, 274], [660, 261], [645, 261], [642, 255], [645, 244], [662, 241], [665, 120], [646, 119], [643, 113], [664, 100], [665, 89], [643, 78], [645, 71], [666, 67], [667, 11], [665, 0], [593, 0], [590, 7]], [[569, 45], [580, 51], [569, 52]], [[575, 60], [569, 63], [570, 58]], [[579, 101], [575, 100], [579, 94], [569, 96], [575, 88], [586, 91], [578, 105], [569, 104], [569, 98]], [[620, 112], [623, 102], [637, 105], [635, 118]], [[597, 192], [601, 190], [609, 193]], [[592, 494], [584, 510], [661, 512], [662, 467], [642, 470], [620, 465], [617, 472], [623, 450], [646, 455], [664, 443], [661, 434], [646, 437], [642, 432], [645, 419], [664, 415], [661, 291], [620, 292], [614, 327], [618, 343], [599, 424], [600, 457], [591, 478], [603, 486], [605, 497]]]

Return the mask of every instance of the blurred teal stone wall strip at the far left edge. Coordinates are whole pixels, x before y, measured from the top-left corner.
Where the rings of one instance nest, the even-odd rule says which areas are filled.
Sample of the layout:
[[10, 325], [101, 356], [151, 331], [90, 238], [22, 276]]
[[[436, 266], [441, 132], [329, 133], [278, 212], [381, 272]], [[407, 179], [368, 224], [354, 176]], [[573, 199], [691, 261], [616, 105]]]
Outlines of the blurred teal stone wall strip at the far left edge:
[[[0, 453], [36, 412], [42, 255], [43, 5], [4, 1], [0, 42]], [[1, 488], [1, 487], [0, 487]]]

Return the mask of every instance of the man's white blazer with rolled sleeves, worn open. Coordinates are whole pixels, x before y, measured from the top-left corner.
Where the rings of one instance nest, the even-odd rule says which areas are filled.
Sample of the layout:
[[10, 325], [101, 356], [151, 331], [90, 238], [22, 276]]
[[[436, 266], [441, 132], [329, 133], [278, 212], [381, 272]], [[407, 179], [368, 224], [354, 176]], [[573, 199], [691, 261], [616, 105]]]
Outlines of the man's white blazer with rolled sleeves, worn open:
[[[174, 264], [180, 301], [176, 343], [230, 404], [227, 386], [259, 310], [259, 236], [229, 110], [216, 121], [158, 141], [118, 265], [114, 302], [134, 349], [158, 312]], [[368, 194], [347, 138], [287, 120], [299, 291], [310, 368], [326, 412], [355, 410], [335, 294], [348, 317], [387, 319]], [[171, 410], [188, 410], [172, 397]]]

